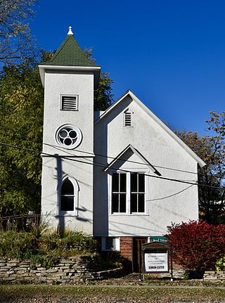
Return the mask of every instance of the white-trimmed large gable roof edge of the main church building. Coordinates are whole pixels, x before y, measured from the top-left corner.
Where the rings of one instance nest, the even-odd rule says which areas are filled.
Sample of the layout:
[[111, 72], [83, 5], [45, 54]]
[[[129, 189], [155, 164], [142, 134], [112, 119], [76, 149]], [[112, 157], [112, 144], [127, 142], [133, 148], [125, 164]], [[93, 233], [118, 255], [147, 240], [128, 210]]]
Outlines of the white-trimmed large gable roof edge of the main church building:
[[132, 91], [128, 90], [126, 91], [115, 103], [113, 103], [113, 105], [110, 106], [110, 108], [108, 108], [107, 110], [105, 110], [105, 112], [103, 112], [103, 114], [99, 117], [99, 119], [96, 121], [96, 124], [98, 122], [101, 122], [101, 120], [108, 115], [115, 107], [117, 107], [117, 105], [119, 105], [124, 98], [126, 98], [127, 96], [130, 96], [131, 99], [137, 103], [148, 115], [149, 117], [151, 117], [151, 119], [153, 119], [158, 125], [160, 125], [160, 127], [162, 127], [162, 129], [164, 129], [167, 134], [169, 134], [169, 136], [171, 136], [172, 138], [174, 138], [174, 140], [182, 147], [184, 148], [184, 150], [186, 150], [186, 152], [191, 155], [191, 157], [193, 157], [193, 159], [195, 159], [196, 162], [198, 162], [198, 164], [200, 165], [200, 167], [205, 166], [205, 162], [203, 160], [200, 159], [200, 157], [198, 157], [198, 155], [196, 155], [193, 150], [191, 150], [191, 148], [189, 148], [178, 136], [176, 136], [176, 134], [174, 134], [174, 132], [169, 129], [169, 127], [167, 127], [166, 124], [164, 124], [153, 112], [151, 112], [149, 110], [149, 108], [147, 108], [146, 105], [144, 105], [141, 100], [139, 100], [139, 98], [137, 98]]

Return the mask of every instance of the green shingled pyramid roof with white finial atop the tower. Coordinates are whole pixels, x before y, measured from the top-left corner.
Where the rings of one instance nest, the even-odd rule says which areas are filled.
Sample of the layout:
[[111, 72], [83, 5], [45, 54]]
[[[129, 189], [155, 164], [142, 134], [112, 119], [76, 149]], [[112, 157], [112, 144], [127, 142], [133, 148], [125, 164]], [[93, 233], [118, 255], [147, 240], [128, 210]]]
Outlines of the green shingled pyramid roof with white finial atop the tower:
[[41, 63], [41, 65], [64, 65], [64, 66], [97, 66], [91, 63], [86, 57], [81, 47], [73, 37], [71, 27], [68, 36], [54, 53], [51, 60]]

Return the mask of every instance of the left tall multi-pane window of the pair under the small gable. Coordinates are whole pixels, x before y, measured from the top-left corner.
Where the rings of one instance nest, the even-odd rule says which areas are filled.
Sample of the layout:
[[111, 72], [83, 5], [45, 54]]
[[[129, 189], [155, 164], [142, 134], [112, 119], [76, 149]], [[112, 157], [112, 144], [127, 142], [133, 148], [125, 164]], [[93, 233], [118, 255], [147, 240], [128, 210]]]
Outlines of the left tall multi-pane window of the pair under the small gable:
[[112, 212], [127, 210], [127, 174], [113, 174]]

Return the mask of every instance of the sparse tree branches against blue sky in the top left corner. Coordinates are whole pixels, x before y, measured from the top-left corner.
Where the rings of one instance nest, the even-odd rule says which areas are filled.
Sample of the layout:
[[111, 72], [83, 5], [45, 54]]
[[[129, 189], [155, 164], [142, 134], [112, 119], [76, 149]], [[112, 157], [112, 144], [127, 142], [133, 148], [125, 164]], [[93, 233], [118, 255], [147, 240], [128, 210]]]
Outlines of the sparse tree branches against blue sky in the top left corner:
[[0, 0], [0, 61], [4, 64], [34, 58], [27, 18], [37, 0]]

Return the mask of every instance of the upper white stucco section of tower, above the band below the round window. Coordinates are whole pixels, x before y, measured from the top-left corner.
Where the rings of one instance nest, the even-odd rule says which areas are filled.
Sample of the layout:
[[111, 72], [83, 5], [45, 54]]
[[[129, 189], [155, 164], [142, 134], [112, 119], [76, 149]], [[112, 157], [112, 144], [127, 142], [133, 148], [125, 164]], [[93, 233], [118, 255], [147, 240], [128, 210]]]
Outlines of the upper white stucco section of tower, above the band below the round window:
[[[78, 95], [79, 110], [60, 110], [61, 95]], [[56, 130], [63, 124], [74, 124], [82, 131], [83, 140], [78, 148], [70, 150], [72, 155], [82, 155], [77, 150], [93, 152], [93, 98], [94, 75], [90, 73], [46, 72], [44, 91], [44, 153], [62, 153], [56, 143]], [[56, 147], [53, 147], [56, 146]], [[59, 150], [60, 148], [60, 150]], [[68, 151], [65, 151], [68, 155]], [[89, 154], [87, 154], [89, 155]]]

